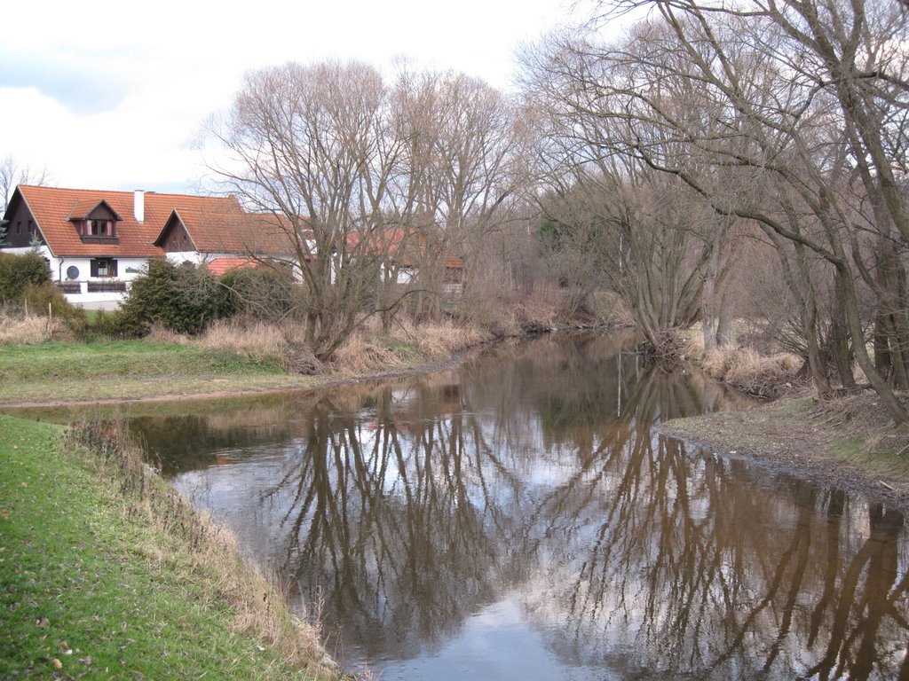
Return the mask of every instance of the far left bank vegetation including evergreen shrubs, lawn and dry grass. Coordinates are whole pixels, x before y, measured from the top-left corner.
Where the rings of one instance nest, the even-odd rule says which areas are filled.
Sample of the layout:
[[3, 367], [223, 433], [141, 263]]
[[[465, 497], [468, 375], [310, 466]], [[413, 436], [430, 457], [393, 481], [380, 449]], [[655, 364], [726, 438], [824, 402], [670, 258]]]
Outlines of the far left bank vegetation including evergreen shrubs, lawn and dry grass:
[[[415, 370], [486, 341], [556, 325], [614, 321], [609, 306], [579, 317], [559, 291], [480, 319], [461, 301], [419, 323], [364, 311], [344, 342], [319, 355], [305, 342], [306, 301], [274, 271], [149, 264], [115, 312], [74, 308], [34, 253], [0, 253], [0, 404], [140, 400], [313, 388], [337, 380]], [[596, 301], [591, 296], [592, 301]], [[588, 306], [589, 307], [589, 306]], [[412, 312], [412, 311], [411, 311]]]

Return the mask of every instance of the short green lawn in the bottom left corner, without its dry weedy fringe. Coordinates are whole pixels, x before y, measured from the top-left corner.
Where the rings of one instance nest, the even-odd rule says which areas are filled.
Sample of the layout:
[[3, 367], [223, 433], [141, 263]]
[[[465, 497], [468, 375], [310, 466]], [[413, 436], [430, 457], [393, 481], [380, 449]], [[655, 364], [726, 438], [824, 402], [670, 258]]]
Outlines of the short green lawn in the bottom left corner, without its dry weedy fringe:
[[0, 416], [0, 678], [306, 677], [235, 633], [211, 568], [61, 434]]

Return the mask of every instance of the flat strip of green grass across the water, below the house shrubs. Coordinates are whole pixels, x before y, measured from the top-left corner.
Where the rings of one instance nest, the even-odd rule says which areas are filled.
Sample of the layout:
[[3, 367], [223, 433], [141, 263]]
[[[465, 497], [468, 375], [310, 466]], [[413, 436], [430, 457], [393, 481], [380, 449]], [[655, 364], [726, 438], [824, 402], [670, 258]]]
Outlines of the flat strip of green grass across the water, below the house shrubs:
[[6, 405], [292, 390], [313, 383], [288, 374], [276, 357], [148, 341], [7, 346], [0, 362], [0, 404]]

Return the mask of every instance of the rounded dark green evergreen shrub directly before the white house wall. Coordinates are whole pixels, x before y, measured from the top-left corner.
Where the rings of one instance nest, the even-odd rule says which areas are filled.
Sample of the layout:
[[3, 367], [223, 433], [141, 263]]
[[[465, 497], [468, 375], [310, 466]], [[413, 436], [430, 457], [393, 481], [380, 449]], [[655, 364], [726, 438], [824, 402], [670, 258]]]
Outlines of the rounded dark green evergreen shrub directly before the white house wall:
[[133, 281], [116, 326], [133, 337], [147, 335], [155, 323], [195, 335], [217, 318], [222, 302], [215, 276], [204, 267], [155, 260]]

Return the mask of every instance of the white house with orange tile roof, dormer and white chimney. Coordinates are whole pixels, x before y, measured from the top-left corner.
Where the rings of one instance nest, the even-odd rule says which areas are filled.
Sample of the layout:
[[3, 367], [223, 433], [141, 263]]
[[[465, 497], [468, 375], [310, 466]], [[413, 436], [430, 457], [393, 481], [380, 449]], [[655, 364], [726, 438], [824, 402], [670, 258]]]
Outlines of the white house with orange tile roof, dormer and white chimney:
[[[274, 219], [245, 212], [235, 197], [22, 184], [6, 205], [4, 221], [0, 248], [35, 249], [66, 299], [94, 309], [115, 309], [151, 258], [201, 264], [286, 260], [293, 253]], [[223, 261], [215, 270], [222, 268]]]

